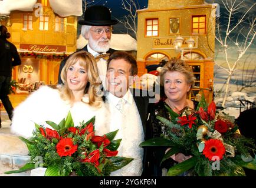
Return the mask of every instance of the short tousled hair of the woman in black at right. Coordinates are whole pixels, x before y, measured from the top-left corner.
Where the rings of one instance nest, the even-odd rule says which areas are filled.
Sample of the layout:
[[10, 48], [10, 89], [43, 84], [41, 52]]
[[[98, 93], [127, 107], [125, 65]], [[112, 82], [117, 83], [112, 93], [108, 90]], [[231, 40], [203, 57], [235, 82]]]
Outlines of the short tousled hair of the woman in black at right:
[[181, 60], [181, 59], [176, 59], [176, 58], [172, 58], [170, 59], [165, 66], [163, 66], [163, 68], [161, 69], [160, 72], [160, 85], [163, 86], [163, 82], [165, 79], [165, 73], [166, 72], [180, 72], [183, 73], [183, 75], [185, 75], [186, 77], [186, 82], [191, 85], [191, 88], [189, 90], [188, 93], [191, 92], [191, 89], [193, 88], [193, 85], [195, 83], [195, 76], [193, 75], [193, 71], [191, 69], [191, 67], [188, 65], [188, 63], [186, 63], [185, 61]]

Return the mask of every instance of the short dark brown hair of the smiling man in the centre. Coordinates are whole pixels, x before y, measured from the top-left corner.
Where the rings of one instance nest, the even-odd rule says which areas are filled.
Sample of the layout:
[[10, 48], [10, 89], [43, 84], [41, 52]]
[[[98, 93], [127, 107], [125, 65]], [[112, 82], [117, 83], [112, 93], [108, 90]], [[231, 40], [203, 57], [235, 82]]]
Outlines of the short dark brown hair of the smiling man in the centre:
[[123, 59], [124, 61], [128, 62], [131, 65], [130, 74], [132, 76], [137, 75], [138, 67], [136, 59], [130, 55], [128, 52], [125, 51], [116, 51], [112, 53], [107, 60], [107, 69], [109, 68], [109, 63], [112, 59]]

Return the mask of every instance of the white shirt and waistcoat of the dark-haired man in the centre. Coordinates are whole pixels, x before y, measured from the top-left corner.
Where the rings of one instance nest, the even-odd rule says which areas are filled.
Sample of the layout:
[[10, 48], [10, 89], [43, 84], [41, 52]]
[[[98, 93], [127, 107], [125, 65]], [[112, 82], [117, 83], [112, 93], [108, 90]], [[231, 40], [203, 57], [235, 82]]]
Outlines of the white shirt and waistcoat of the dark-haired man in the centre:
[[143, 148], [139, 144], [144, 141], [144, 132], [142, 121], [136, 103], [133, 100], [133, 95], [128, 90], [123, 96], [125, 104], [123, 113], [121, 113], [116, 105], [120, 98], [108, 93], [106, 100], [110, 109], [110, 132], [119, 129], [114, 139], [122, 139], [117, 156], [131, 157], [133, 161], [124, 166], [122, 169], [112, 172], [111, 176], [141, 176], [143, 165]]

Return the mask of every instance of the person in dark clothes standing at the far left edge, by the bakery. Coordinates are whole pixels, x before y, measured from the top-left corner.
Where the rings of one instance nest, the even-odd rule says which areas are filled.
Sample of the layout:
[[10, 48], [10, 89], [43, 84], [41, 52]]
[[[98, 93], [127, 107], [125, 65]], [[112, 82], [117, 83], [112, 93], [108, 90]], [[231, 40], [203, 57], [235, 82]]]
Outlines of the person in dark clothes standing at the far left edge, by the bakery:
[[[9, 84], [12, 78], [12, 66], [21, 65], [21, 58], [14, 44], [7, 41], [11, 37], [4, 25], [0, 26], [0, 99], [4, 105], [9, 119], [12, 119], [12, 103], [9, 100]], [[1, 127], [1, 117], [0, 117]]]

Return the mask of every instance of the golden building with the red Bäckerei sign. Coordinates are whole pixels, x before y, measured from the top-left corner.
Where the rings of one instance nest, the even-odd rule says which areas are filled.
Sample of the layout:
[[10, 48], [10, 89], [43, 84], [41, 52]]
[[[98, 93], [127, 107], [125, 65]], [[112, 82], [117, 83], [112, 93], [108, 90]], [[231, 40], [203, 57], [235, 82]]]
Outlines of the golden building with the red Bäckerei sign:
[[1, 23], [8, 28], [9, 41], [21, 56], [22, 64], [12, 74], [21, 91], [35, 83], [57, 84], [61, 60], [76, 51], [77, 16], [60, 17], [47, 0], [37, 2], [40, 6], [34, 11], [12, 11]]

